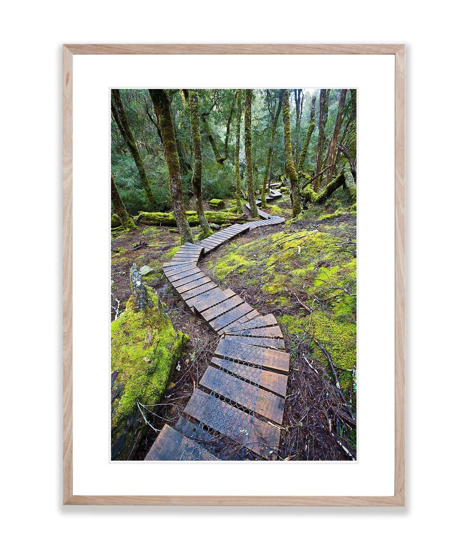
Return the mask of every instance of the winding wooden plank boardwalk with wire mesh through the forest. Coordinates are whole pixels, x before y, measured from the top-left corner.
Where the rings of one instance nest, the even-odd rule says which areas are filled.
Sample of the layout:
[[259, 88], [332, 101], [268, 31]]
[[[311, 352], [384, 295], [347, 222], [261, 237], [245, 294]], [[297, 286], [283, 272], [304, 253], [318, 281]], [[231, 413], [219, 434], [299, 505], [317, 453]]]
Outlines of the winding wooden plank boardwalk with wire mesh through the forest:
[[[280, 195], [270, 190], [270, 199]], [[165, 424], [146, 461], [268, 459], [279, 446], [289, 373], [281, 329], [272, 314], [260, 315], [197, 267], [200, 257], [227, 240], [284, 222], [261, 210], [260, 216], [265, 220], [232, 225], [197, 244], [183, 244], [163, 266], [181, 299], [220, 339], [183, 416], [175, 428]]]

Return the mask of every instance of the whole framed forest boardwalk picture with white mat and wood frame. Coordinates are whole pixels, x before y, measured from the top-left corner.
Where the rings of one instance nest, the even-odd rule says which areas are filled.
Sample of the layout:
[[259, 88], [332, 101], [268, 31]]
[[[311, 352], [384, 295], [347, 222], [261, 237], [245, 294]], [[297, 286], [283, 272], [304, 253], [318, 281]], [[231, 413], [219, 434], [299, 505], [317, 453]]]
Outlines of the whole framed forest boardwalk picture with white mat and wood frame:
[[404, 45], [65, 45], [64, 504], [404, 506]]

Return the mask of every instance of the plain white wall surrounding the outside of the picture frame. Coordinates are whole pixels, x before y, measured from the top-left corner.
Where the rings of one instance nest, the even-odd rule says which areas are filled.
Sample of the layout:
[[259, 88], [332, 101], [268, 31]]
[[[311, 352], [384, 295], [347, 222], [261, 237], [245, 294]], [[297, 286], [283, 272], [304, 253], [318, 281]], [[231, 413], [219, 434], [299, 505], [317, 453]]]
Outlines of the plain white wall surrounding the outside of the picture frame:
[[[0, 176], [7, 223], [2, 219], [1, 300], [8, 339], [2, 339], [1, 417], [7, 555], [455, 554], [463, 497], [463, 8], [450, 0], [420, 8], [405, 0], [289, 3], [285, 13], [282, 4], [250, 0], [164, 5], [171, 9], [146, 0], [82, 0], [74, 7], [23, 2], [3, 9]], [[64, 42], [408, 45], [405, 509], [61, 506]], [[452, 198], [438, 199], [448, 186]]]

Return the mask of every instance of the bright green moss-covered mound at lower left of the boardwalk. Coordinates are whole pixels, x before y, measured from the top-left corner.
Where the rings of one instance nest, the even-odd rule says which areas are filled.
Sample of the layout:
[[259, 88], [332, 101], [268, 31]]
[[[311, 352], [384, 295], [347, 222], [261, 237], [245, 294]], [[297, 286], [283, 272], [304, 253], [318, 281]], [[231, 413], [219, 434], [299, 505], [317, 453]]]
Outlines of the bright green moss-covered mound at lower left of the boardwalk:
[[[136, 311], [131, 296], [111, 326], [112, 459], [127, 459], [146, 429], [137, 401], [156, 405], [189, 337], [176, 331], [159, 297], [147, 288], [150, 307]], [[139, 437], [140, 439], [140, 437]]]

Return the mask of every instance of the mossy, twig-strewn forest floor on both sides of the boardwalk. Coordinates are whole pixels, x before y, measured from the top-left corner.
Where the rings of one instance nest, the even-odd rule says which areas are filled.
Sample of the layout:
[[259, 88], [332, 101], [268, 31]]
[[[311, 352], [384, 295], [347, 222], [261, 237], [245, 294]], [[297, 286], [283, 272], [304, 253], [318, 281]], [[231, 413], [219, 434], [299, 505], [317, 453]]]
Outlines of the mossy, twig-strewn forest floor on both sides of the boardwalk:
[[[226, 199], [225, 203], [226, 211], [234, 209], [233, 200]], [[301, 437], [298, 444], [300, 453], [295, 459], [341, 459], [340, 450], [338, 454], [334, 453], [337, 452], [334, 444], [325, 445], [328, 438], [328, 402], [324, 400], [324, 393], [328, 390], [331, 393], [334, 379], [328, 361], [314, 338], [327, 349], [337, 367], [341, 389], [347, 398], [350, 394], [354, 403], [356, 378], [352, 376], [352, 369], [356, 362], [356, 214], [349, 196], [342, 189], [327, 203], [304, 208], [298, 219], [292, 219], [289, 195], [273, 200], [264, 209], [267, 213], [284, 217], [286, 223], [260, 227], [237, 237], [211, 252], [208, 259], [200, 262], [200, 267], [210, 276], [216, 276], [223, 288], [233, 288], [262, 314], [272, 312], [281, 325], [293, 367], [288, 384], [289, 397], [286, 399], [285, 430], [281, 436], [283, 443], [294, 440], [295, 429], [298, 429]], [[199, 235], [200, 228], [193, 228], [193, 233]], [[166, 302], [174, 329], [181, 329], [190, 336], [180, 359], [181, 369], [175, 370], [171, 378], [176, 386], [179, 379], [182, 380], [180, 387], [175, 387], [172, 394], [173, 403], [156, 407], [157, 416], [151, 417], [152, 424], [158, 428], [165, 422], [175, 425], [194, 384], [212, 358], [215, 347], [215, 336], [208, 326], [194, 318], [180, 304], [162, 273], [162, 264], [171, 259], [179, 246], [179, 233], [172, 227], [139, 225], [132, 232], [113, 234], [112, 239], [113, 318], [116, 300], [119, 300], [121, 312], [131, 295], [128, 275], [132, 263], [136, 263], [139, 268], [148, 265], [155, 271], [145, 276], [144, 282], [152, 286], [160, 299]], [[150, 356], [142, 354], [147, 348], [144, 348], [145, 339], [145, 336], [142, 339], [141, 334], [137, 354], [142, 359], [147, 357], [151, 360]], [[309, 399], [300, 403], [306, 411], [296, 418], [299, 398], [295, 400], [294, 397], [306, 390], [305, 385], [309, 381], [307, 375], [302, 380], [303, 384], [299, 384], [299, 378], [303, 378], [304, 374], [304, 357], [319, 373], [317, 377], [315, 372], [311, 385], [320, 392], [318, 397], [323, 397], [323, 400], [316, 405], [316, 399], [307, 392], [305, 397]], [[187, 374], [187, 369], [193, 362], [194, 374], [190, 378], [191, 372]], [[146, 364], [148, 366], [150, 363]], [[166, 376], [163, 378], [160, 378], [161, 384], [157, 384], [160, 388], [172, 386], [172, 383], [166, 384]], [[139, 387], [146, 393], [144, 382]], [[131, 392], [128, 392], [127, 397], [129, 401]], [[318, 411], [315, 411], [317, 407]], [[307, 430], [300, 425], [303, 423], [305, 426], [305, 420]], [[333, 422], [337, 424], [337, 419], [333, 419]], [[323, 434], [319, 435], [318, 432]], [[354, 448], [354, 430], [349, 434], [344, 432], [345, 439], [349, 439]], [[141, 451], [131, 459], [143, 459], [143, 451], [148, 451], [154, 436], [156, 434], [149, 431]], [[315, 438], [310, 445], [305, 440], [312, 439], [311, 436]], [[293, 444], [289, 442], [286, 446], [289, 453], [294, 452]], [[307, 451], [306, 456], [303, 455], [304, 449]]]

